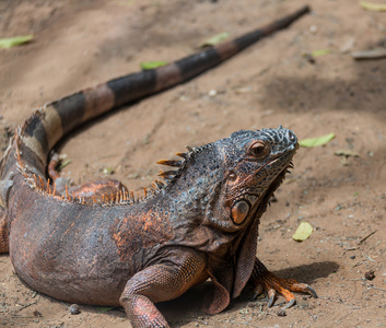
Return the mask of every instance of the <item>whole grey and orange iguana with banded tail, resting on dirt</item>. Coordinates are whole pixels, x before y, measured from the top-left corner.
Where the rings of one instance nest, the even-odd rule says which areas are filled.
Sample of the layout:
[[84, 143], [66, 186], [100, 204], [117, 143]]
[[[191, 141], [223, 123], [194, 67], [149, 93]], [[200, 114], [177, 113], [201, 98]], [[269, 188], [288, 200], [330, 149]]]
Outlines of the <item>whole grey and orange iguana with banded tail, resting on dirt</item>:
[[[316, 293], [280, 279], [256, 258], [258, 224], [297, 149], [282, 127], [241, 130], [178, 153], [164, 183], [138, 199], [117, 181], [58, 191], [52, 147], [72, 129], [117, 106], [185, 82], [308, 8], [233, 42], [174, 63], [129, 74], [39, 108], [19, 129], [0, 162], [0, 253], [10, 254], [31, 288], [79, 304], [121, 305], [134, 327], [167, 327], [154, 303], [210, 278], [207, 312], [223, 311], [245, 284], [276, 292]], [[54, 163], [54, 164], [52, 164]]]

